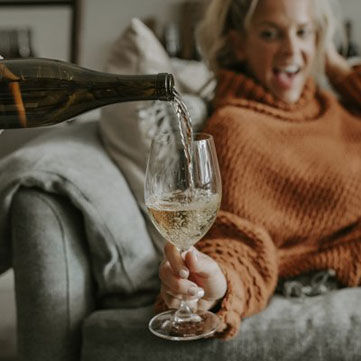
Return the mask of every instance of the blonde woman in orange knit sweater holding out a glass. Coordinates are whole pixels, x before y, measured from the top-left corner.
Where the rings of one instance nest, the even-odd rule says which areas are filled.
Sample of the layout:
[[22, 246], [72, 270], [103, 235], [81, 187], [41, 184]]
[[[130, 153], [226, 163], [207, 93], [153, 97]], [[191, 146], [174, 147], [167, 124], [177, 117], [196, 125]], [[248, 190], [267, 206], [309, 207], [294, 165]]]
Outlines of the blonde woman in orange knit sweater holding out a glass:
[[[222, 206], [197, 249], [181, 258], [166, 245], [161, 297], [172, 308], [201, 297], [222, 338], [279, 278], [333, 269], [361, 284], [361, 67], [328, 45], [332, 31], [327, 0], [213, 0], [201, 24]], [[322, 67], [340, 100], [312, 79]]]

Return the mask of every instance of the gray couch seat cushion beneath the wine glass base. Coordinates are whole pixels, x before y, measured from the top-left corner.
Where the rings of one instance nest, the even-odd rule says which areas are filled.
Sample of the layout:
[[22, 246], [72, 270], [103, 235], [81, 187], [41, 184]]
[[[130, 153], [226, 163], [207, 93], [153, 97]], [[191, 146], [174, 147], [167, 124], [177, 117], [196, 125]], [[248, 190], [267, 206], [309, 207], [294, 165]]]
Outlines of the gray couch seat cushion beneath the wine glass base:
[[172, 342], [148, 331], [152, 307], [93, 313], [83, 328], [82, 361], [360, 360], [361, 288], [287, 299], [245, 319], [230, 341]]

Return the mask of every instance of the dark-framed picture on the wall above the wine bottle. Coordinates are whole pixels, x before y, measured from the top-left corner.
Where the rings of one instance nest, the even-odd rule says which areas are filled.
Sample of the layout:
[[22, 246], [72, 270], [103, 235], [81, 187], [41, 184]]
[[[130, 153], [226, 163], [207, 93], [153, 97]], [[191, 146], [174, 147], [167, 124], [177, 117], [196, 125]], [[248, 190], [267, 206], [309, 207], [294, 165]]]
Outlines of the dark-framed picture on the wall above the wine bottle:
[[80, 10], [81, 0], [0, 0], [0, 53], [77, 63]]

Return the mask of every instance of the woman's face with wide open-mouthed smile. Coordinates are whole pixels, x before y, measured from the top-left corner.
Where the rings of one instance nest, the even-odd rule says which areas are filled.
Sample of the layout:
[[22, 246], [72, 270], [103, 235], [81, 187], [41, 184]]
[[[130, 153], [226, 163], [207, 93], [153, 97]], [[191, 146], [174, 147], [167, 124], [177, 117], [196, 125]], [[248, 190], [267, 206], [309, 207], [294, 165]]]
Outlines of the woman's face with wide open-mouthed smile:
[[[277, 98], [299, 100], [316, 50], [314, 0], [259, 0], [245, 35], [238, 34], [238, 60]], [[317, 0], [316, 0], [317, 1]]]

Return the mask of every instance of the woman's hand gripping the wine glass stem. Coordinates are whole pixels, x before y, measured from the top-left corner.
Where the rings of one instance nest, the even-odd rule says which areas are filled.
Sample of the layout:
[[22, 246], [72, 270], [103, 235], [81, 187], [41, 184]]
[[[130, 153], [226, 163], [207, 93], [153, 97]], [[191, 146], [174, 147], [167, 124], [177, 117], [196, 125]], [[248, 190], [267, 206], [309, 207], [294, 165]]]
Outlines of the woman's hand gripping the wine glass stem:
[[171, 243], [164, 253], [159, 277], [161, 296], [169, 308], [178, 308], [185, 299], [194, 310], [209, 310], [223, 298], [227, 281], [216, 261], [194, 247], [181, 255]]

